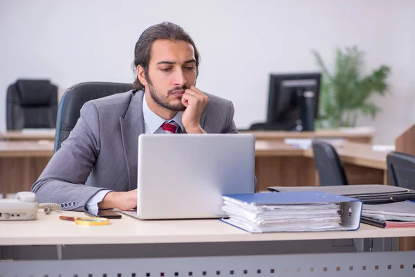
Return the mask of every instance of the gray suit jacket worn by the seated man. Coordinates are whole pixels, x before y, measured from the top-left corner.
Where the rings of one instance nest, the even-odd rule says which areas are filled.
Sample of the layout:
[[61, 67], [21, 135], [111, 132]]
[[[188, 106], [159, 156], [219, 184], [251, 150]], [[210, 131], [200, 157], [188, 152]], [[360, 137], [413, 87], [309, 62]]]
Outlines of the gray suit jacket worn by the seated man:
[[[208, 133], [237, 133], [232, 102], [206, 95], [201, 127]], [[68, 139], [32, 186], [37, 202], [84, 211], [100, 190], [137, 188], [138, 136], [145, 132], [143, 96], [143, 91], [127, 91], [86, 102]]]

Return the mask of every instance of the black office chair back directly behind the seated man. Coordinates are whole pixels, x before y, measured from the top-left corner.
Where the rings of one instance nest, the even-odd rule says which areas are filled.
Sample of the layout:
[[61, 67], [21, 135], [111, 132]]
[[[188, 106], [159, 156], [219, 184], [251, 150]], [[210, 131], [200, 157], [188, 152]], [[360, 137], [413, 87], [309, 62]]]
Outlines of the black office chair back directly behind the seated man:
[[68, 139], [81, 116], [81, 108], [86, 102], [131, 89], [133, 89], [132, 84], [114, 82], [83, 82], [66, 89], [57, 110], [54, 152], [57, 152], [62, 142]]

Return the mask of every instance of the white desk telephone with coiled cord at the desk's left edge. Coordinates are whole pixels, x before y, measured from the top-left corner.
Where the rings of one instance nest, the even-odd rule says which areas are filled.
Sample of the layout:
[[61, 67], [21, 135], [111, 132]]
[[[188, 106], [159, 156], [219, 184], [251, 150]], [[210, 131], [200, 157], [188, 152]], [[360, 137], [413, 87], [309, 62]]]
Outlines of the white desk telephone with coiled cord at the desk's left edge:
[[60, 210], [59, 204], [37, 204], [35, 193], [22, 191], [15, 199], [0, 199], [0, 220], [35, 220], [39, 208], [44, 208], [46, 213]]

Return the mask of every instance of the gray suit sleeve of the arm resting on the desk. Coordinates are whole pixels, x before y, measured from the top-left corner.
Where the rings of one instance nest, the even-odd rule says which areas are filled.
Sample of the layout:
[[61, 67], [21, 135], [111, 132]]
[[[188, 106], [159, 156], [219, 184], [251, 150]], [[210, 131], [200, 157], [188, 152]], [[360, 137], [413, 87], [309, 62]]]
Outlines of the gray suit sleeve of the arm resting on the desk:
[[86, 202], [104, 190], [85, 186], [99, 153], [98, 110], [93, 102], [86, 102], [68, 139], [31, 188], [37, 202], [52, 202], [60, 204], [64, 210], [84, 211]]

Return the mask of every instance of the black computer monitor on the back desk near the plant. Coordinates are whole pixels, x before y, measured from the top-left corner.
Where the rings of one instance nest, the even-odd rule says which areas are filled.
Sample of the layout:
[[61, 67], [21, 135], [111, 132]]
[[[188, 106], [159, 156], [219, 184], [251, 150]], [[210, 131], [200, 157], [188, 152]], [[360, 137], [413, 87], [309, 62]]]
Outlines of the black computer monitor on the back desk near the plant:
[[321, 73], [271, 74], [263, 129], [313, 131]]

